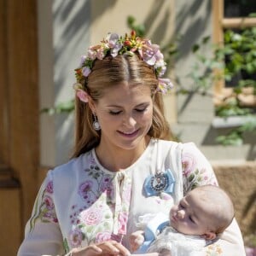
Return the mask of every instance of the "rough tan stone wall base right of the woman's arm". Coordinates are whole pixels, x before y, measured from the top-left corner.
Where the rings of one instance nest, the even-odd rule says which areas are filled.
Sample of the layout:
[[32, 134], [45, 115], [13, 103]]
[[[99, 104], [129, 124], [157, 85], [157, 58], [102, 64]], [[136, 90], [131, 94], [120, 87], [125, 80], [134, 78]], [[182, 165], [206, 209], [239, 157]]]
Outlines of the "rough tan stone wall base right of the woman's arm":
[[256, 230], [256, 161], [241, 164], [213, 164], [219, 186], [234, 202], [236, 220], [243, 235]]

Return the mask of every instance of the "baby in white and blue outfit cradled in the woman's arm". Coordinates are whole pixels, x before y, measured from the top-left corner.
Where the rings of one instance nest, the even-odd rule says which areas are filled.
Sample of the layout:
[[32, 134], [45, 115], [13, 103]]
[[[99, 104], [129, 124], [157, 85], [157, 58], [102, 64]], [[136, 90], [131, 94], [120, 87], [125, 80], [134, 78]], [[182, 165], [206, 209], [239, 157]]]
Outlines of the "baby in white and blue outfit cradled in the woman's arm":
[[188, 255], [191, 249], [200, 251], [230, 225], [234, 207], [223, 189], [206, 185], [189, 191], [173, 206], [166, 223], [163, 217], [162, 213], [154, 215], [146, 221], [146, 230], [131, 234], [134, 254], [155, 252], [180, 256]]

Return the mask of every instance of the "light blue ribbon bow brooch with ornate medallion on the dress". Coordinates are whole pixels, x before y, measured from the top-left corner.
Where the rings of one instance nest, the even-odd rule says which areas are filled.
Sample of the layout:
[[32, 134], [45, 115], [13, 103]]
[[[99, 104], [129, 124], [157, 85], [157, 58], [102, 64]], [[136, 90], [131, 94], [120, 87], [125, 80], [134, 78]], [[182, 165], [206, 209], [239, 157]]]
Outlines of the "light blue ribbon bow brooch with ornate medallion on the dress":
[[146, 196], [160, 195], [162, 192], [172, 194], [175, 178], [170, 169], [166, 172], [155, 172], [149, 175], [144, 182], [143, 188]]

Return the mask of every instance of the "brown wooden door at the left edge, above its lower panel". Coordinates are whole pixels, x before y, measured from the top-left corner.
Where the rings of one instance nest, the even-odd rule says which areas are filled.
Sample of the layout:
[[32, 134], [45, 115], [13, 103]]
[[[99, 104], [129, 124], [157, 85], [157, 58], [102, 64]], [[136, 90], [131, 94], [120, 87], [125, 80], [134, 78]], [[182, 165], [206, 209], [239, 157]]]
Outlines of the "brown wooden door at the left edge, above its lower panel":
[[38, 190], [37, 0], [0, 0], [0, 9], [0, 187], [20, 188], [21, 239]]

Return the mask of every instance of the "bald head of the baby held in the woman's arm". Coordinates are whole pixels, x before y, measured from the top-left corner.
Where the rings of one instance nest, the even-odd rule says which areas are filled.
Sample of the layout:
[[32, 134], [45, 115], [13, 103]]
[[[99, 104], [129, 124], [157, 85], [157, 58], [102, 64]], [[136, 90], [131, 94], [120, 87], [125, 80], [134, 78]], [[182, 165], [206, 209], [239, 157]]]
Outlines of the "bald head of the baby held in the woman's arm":
[[223, 189], [205, 185], [197, 187], [173, 206], [170, 211], [171, 225], [177, 231], [214, 239], [222, 233], [234, 218], [234, 207]]

